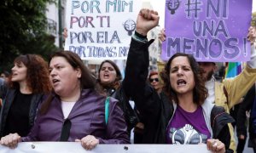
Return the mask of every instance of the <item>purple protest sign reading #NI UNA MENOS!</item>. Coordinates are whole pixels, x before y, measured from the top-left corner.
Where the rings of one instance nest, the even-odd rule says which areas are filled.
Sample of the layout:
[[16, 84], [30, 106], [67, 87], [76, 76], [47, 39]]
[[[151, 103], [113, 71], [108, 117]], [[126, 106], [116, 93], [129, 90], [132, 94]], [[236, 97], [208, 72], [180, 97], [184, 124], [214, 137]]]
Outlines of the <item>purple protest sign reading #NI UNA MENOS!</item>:
[[198, 61], [247, 61], [252, 0], [166, 0], [161, 58], [177, 52]]

